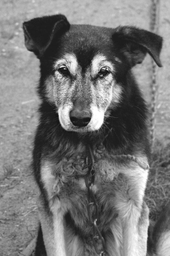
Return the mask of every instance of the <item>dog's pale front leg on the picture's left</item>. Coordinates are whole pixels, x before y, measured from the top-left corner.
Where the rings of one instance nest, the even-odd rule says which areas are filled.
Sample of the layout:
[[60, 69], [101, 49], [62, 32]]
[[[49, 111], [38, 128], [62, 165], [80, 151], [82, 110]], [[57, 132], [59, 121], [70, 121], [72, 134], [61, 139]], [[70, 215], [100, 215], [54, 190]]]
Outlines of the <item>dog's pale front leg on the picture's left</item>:
[[[48, 195], [49, 209], [48, 218], [49, 221], [44, 218], [45, 229], [48, 229], [49, 222], [52, 226], [52, 242], [50, 241], [48, 234], [46, 235], [45, 247], [49, 251], [47, 256], [66, 256], [66, 247], [64, 239], [64, 214], [66, 213], [66, 207], [61, 205], [61, 200], [58, 196], [59, 186], [58, 178], [52, 173], [52, 165], [49, 161], [42, 163], [41, 179], [43, 181], [44, 188]], [[40, 212], [41, 215], [41, 212]], [[43, 230], [43, 227], [42, 227]], [[43, 230], [43, 238], [44, 238]]]

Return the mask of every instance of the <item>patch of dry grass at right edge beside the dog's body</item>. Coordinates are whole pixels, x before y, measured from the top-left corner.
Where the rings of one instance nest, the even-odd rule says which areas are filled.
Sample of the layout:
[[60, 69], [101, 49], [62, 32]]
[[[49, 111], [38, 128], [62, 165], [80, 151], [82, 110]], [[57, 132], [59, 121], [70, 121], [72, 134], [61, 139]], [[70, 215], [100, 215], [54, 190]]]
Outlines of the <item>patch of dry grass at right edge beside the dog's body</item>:
[[164, 145], [156, 141], [146, 191], [146, 203], [152, 220], [157, 220], [168, 201], [170, 201], [170, 143]]

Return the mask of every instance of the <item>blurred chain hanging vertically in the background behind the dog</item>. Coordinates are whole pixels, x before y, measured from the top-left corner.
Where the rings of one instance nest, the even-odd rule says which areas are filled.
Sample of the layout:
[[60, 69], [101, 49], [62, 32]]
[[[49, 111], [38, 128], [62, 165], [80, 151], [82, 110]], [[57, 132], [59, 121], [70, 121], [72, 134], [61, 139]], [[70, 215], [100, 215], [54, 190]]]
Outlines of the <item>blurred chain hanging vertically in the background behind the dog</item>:
[[[150, 31], [153, 33], [158, 33], [158, 24], [159, 24], [159, 0], [152, 0], [151, 4], [151, 14], [150, 14]], [[158, 93], [158, 81], [157, 81], [157, 73], [158, 67], [156, 63], [152, 61], [152, 79], [151, 79], [151, 111], [152, 116], [150, 119], [150, 136], [151, 136], [151, 147], [153, 150], [154, 140], [155, 140], [155, 116], [156, 116], [156, 98]]]

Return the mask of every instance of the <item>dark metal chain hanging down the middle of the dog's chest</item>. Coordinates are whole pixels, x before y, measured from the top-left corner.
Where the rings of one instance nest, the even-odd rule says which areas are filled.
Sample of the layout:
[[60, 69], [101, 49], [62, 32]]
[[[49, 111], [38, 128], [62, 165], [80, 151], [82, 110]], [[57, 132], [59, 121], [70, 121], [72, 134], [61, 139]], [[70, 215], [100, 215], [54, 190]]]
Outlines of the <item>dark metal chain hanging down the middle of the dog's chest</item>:
[[[89, 154], [90, 154], [91, 161], [92, 161], [91, 166], [94, 166], [95, 160], [94, 160], [94, 156], [93, 156], [92, 149], [90, 146], [89, 146]], [[86, 166], [89, 166], [88, 157], [86, 157]], [[89, 222], [93, 227], [92, 241], [93, 241], [93, 245], [94, 245], [96, 253], [100, 256], [106, 256], [107, 254], [105, 251], [106, 250], [105, 240], [104, 240], [103, 236], [101, 235], [101, 232], [98, 229], [98, 224], [97, 224], [98, 217], [99, 217], [99, 208], [98, 208], [98, 203], [96, 201], [95, 193], [94, 193], [94, 189], [93, 189], [93, 185], [95, 182], [95, 171], [93, 170], [93, 168], [91, 168], [91, 170], [90, 170], [90, 176], [91, 176], [90, 183], [88, 182], [88, 176], [89, 176], [89, 174], [86, 174], [84, 176], [84, 180], [85, 180], [86, 188], [87, 188], [87, 200], [88, 200], [87, 212], [88, 212], [88, 216], [89, 216]], [[102, 244], [101, 250], [98, 250], [98, 242], [99, 241]]]

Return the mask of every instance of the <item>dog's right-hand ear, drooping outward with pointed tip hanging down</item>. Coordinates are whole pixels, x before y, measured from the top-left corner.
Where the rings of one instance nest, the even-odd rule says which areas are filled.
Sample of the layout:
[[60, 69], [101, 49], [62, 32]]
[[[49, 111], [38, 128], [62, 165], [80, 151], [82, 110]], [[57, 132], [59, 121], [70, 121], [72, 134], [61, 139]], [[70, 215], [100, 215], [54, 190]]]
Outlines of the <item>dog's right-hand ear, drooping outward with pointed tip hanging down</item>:
[[119, 26], [115, 29], [112, 40], [127, 56], [132, 66], [141, 63], [148, 52], [158, 67], [162, 67], [159, 58], [162, 48], [161, 36], [133, 26]]

